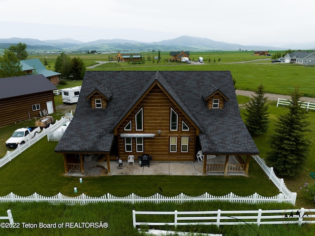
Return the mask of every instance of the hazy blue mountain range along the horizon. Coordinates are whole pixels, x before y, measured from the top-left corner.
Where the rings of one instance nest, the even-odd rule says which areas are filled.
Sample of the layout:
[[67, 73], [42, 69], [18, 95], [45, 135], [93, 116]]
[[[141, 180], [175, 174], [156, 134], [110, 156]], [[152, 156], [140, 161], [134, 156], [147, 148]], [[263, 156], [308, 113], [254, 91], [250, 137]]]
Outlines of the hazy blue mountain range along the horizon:
[[[23, 42], [27, 44], [28, 51], [239, 51], [239, 50], [285, 50], [288, 45], [279, 47], [259, 46], [259, 45], [241, 45], [236, 43], [226, 43], [214, 41], [208, 38], [180, 36], [173, 39], [162, 40], [158, 42], [141, 42], [127, 39], [99, 39], [91, 42], [82, 42], [72, 38], [62, 38], [58, 40], [38, 40], [33, 38], [0, 38], [0, 49], [7, 48], [11, 44]], [[315, 45], [315, 42], [310, 43]], [[298, 49], [298, 48], [290, 48]]]

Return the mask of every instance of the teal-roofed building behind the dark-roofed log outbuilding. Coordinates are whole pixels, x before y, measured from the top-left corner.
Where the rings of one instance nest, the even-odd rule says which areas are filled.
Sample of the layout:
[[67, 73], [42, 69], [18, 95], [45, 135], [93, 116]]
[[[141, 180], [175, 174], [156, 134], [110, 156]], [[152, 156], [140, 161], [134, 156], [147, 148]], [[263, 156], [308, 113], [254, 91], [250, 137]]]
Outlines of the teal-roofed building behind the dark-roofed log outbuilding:
[[61, 73], [46, 69], [46, 67], [39, 61], [39, 59], [21, 60], [22, 70], [26, 74], [43, 74], [52, 84], [59, 84], [59, 77]]

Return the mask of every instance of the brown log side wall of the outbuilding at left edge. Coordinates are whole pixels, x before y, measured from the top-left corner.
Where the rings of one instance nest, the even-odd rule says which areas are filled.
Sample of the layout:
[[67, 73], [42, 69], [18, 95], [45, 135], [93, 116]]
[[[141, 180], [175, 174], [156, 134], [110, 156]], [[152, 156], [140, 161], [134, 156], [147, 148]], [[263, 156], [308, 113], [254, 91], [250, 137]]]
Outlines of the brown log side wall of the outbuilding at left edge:
[[[53, 101], [55, 110], [53, 91], [0, 100], [0, 126], [39, 117], [40, 110], [47, 110], [47, 101]], [[40, 110], [32, 111], [32, 105], [38, 103]]]

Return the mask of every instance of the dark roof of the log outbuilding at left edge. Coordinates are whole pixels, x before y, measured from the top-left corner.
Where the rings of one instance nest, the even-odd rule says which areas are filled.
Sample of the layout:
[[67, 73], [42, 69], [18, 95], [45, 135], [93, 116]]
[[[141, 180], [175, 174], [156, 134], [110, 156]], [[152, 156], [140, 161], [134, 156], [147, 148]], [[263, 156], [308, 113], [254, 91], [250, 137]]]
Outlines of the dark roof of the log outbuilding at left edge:
[[0, 78], [0, 99], [56, 89], [57, 87], [42, 74]]

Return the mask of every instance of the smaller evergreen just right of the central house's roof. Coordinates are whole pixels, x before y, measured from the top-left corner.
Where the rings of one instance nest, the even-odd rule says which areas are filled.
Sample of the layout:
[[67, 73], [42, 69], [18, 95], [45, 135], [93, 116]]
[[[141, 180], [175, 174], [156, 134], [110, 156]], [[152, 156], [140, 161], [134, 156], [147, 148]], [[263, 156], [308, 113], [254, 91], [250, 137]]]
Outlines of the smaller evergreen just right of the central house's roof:
[[264, 86], [260, 84], [246, 107], [245, 124], [251, 135], [262, 135], [268, 130], [269, 115], [265, 94]]

